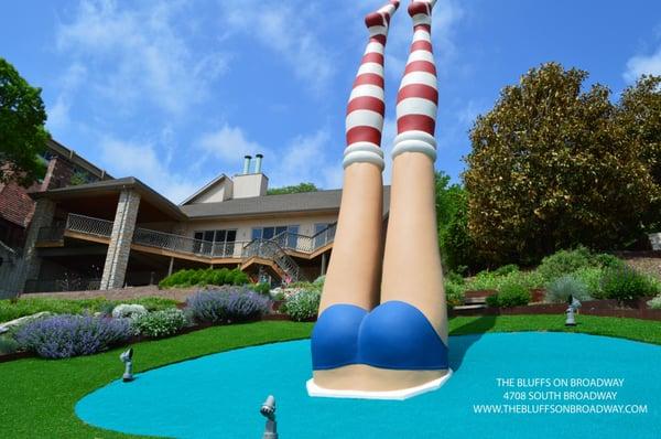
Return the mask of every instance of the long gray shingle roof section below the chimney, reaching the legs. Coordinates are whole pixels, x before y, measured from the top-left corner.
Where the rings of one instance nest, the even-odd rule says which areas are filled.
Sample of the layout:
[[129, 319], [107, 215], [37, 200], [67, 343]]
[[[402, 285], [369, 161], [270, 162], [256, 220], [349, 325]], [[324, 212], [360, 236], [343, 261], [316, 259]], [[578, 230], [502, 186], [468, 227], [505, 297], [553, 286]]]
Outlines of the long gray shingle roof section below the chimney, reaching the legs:
[[[234, 199], [217, 203], [199, 203], [180, 206], [189, 218], [263, 215], [294, 212], [324, 212], [339, 210], [342, 190], [303, 192], [283, 195], [266, 195]], [[383, 188], [383, 208], [388, 212], [390, 186]]]

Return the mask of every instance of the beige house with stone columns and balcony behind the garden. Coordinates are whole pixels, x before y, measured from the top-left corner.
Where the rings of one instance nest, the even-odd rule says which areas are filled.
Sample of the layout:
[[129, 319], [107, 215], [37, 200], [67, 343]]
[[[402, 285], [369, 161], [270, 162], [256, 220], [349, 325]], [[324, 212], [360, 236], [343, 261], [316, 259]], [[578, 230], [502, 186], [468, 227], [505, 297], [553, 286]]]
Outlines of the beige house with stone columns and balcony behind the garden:
[[133, 176], [31, 192], [25, 291], [151, 285], [182, 268], [239, 267], [275, 283], [324, 274], [342, 191], [268, 195], [262, 157], [251, 160], [180, 205]]

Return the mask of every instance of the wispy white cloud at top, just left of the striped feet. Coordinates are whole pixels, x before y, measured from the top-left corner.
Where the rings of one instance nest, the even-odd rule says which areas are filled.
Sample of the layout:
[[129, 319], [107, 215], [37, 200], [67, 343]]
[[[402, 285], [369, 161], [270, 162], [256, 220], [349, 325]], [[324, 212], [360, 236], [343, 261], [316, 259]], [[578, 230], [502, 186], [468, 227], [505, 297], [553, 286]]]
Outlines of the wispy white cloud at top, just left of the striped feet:
[[224, 28], [229, 34], [256, 38], [281, 55], [315, 93], [327, 90], [335, 75], [333, 56], [315, 33], [325, 9], [315, 10], [301, 2], [260, 0], [219, 0]]

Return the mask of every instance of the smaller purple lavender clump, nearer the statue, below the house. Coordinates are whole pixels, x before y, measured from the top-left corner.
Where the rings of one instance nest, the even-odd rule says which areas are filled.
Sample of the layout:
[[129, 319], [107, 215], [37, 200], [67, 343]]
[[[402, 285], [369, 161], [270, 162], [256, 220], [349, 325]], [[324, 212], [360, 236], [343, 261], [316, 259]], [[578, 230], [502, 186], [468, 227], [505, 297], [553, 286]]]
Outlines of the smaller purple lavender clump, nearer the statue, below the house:
[[269, 299], [246, 287], [221, 287], [199, 291], [186, 300], [189, 317], [198, 323], [253, 320], [268, 309]]

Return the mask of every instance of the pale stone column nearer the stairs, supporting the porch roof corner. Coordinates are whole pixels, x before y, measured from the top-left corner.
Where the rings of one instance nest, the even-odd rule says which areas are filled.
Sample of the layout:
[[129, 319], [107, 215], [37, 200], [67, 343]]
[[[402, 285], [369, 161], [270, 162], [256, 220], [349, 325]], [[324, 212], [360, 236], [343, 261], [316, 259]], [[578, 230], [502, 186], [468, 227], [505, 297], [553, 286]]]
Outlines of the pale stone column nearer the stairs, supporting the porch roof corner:
[[123, 190], [119, 194], [112, 234], [108, 244], [108, 254], [104, 265], [101, 277], [101, 290], [123, 287], [129, 265], [129, 253], [131, 240], [136, 229], [138, 208], [140, 207], [140, 194], [133, 190]]

